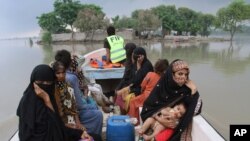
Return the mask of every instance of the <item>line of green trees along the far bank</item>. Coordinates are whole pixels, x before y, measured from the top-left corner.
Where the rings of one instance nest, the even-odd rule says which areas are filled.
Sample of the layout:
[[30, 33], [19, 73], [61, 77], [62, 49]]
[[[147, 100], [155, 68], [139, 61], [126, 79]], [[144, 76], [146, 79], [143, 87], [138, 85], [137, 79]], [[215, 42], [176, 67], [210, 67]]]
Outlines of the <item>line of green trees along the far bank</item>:
[[[94, 35], [98, 29], [105, 29], [109, 24], [116, 28], [132, 28], [139, 35], [160, 31], [164, 37], [175, 31], [176, 35], [209, 36], [214, 29], [229, 31], [231, 39], [242, 27], [243, 21], [250, 19], [250, 4], [244, 0], [234, 0], [218, 10], [216, 15], [196, 12], [186, 7], [160, 5], [150, 9], [139, 9], [130, 17], [105, 17], [100, 6], [81, 4], [74, 0], [56, 0], [54, 11], [38, 17], [40, 27], [48, 33], [70, 33], [74, 30]], [[48, 34], [47, 33], [47, 34]], [[49, 35], [47, 35], [49, 36]]]

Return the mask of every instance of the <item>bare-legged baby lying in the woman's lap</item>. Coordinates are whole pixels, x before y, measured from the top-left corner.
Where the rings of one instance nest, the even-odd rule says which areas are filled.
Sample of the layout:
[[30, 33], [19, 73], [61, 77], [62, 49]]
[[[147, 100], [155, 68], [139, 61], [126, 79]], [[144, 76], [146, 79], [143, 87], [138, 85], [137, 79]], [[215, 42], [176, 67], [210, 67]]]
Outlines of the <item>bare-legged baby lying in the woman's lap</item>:
[[[177, 103], [174, 107], [166, 107], [163, 108], [160, 112], [154, 114], [152, 117], [149, 117], [146, 119], [146, 121], [143, 123], [142, 127], [138, 130], [138, 133], [143, 136], [145, 141], [151, 141], [155, 135], [166, 129], [168, 138], [166, 138], [166, 141], [171, 137], [171, 135], [174, 132], [174, 129], [172, 128], [166, 128], [163, 126], [160, 122], [158, 122], [155, 119], [155, 116], [159, 116], [161, 118], [173, 118], [174, 120], [179, 120], [186, 112], [187, 105], [185, 103]], [[147, 132], [150, 132], [149, 129], [153, 130], [153, 133], [149, 134]]]

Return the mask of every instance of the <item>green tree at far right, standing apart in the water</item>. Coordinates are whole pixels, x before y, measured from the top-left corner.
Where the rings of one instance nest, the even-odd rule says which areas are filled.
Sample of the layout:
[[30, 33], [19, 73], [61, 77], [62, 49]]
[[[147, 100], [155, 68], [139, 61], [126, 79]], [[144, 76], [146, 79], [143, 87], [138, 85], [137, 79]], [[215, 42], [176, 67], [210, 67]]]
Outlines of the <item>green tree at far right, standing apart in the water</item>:
[[244, 0], [234, 0], [227, 7], [218, 10], [217, 26], [224, 31], [230, 32], [230, 40], [233, 40], [236, 31], [240, 30], [240, 25], [244, 20], [250, 19], [249, 4]]

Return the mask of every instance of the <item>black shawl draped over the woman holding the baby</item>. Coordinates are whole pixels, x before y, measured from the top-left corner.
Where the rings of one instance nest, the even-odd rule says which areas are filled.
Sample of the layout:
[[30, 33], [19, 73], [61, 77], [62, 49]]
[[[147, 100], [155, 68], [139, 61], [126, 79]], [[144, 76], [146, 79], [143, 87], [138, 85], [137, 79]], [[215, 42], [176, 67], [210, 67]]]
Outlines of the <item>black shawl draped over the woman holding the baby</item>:
[[174, 62], [170, 64], [166, 73], [161, 77], [161, 79], [156, 84], [156, 87], [152, 90], [149, 97], [145, 100], [141, 112], [141, 117], [142, 120], [145, 121], [148, 117], [151, 117], [161, 108], [173, 106], [174, 102], [176, 102], [177, 99], [181, 99], [181, 101], [185, 102], [188, 105], [187, 111], [175, 128], [173, 136], [170, 138], [170, 140], [179, 140], [181, 133], [184, 131], [184, 129], [187, 128], [188, 124], [193, 118], [195, 107], [199, 98], [199, 93], [197, 91], [192, 96], [190, 88], [188, 88], [186, 85], [179, 86], [173, 80], [172, 69]]

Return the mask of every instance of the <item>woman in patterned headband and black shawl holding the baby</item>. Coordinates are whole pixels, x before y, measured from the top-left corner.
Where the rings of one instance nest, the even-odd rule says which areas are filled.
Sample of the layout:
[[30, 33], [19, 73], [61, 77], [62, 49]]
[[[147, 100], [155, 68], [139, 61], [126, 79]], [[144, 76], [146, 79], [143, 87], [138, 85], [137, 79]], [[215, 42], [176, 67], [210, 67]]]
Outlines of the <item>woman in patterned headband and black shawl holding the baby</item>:
[[[152, 117], [160, 109], [172, 105], [179, 99], [187, 103], [186, 113], [179, 121], [179, 124], [176, 124], [174, 119], [163, 119], [159, 115], [155, 116], [155, 119], [165, 127], [175, 128], [169, 140], [180, 140], [181, 137], [190, 139], [193, 116], [201, 112], [200, 95], [196, 85], [190, 80], [189, 73], [189, 66], [185, 61], [174, 60], [143, 104], [141, 118], [146, 121], [147, 118]], [[157, 141], [166, 140], [165, 135], [166, 130], [157, 134], [155, 139]]]

